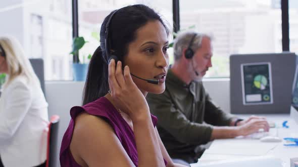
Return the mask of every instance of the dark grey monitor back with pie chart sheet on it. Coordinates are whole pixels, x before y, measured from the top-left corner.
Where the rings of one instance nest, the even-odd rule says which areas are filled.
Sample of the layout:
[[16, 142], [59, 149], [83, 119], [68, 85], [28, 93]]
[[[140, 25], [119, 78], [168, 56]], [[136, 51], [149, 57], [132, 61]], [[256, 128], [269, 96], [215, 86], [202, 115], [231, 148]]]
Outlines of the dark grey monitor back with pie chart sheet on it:
[[231, 55], [231, 113], [290, 113], [295, 67], [290, 52]]

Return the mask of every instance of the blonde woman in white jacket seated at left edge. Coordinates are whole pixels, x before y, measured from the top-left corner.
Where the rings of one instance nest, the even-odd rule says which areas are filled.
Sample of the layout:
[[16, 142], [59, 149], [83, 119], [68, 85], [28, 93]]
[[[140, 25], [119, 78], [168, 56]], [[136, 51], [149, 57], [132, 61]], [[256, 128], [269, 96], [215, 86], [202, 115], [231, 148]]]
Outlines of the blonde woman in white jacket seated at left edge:
[[0, 167], [45, 166], [47, 103], [20, 43], [0, 37]]

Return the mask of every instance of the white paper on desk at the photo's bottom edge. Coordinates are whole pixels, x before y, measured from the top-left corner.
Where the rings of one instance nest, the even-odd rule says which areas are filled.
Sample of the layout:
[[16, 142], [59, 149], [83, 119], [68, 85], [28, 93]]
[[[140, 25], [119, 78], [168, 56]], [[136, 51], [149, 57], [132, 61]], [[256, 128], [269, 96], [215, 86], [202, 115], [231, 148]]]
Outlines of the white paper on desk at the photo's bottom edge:
[[192, 163], [191, 167], [282, 167], [282, 161], [279, 158], [272, 156], [257, 156], [257, 157], [248, 157], [248, 158], [239, 158], [239, 159], [227, 159], [219, 160], [206, 163]]

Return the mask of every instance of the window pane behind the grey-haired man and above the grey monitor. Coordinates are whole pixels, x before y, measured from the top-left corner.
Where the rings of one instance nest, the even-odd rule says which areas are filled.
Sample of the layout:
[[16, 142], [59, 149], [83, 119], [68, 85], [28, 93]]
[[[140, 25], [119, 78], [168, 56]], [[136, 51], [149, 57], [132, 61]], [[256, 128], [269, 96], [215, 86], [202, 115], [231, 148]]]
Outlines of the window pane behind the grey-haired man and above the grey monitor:
[[278, 3], [256, 0], [180, 1], [180, 29], [194, 26], [195, 31], [213, 36], [213, 67], [207, 72], [207, 77], [229, 77], [231, 54], [282, 51]]

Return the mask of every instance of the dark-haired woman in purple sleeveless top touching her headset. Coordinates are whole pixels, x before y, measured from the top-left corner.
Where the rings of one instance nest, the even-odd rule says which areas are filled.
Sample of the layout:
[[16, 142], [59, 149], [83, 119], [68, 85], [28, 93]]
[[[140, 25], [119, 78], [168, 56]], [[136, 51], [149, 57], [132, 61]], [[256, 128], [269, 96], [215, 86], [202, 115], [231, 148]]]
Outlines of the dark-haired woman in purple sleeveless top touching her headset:
[[160, 16], [144, 5], [105, 18], [83, 106], [70, 111], [61, 166], [182, 166], [169, 157], [145, 100], [165, 90], [168, 35]]

